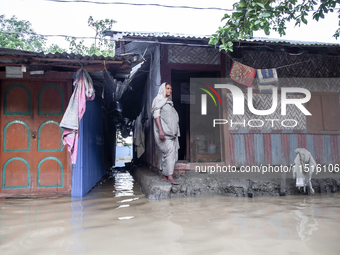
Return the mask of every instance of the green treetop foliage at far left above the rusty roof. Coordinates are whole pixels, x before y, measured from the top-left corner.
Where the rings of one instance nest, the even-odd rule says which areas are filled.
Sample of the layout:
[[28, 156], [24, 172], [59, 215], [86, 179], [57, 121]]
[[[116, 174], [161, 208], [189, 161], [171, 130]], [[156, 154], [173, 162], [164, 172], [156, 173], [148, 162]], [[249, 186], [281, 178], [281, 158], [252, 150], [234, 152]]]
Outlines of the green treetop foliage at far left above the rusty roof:
[[18, 20], [15, 16], [6, 19], [5, 15], [0, 15], [1, 48], [41, 52], [45, 45], [46, 38], [37, 35], [30, 22]]

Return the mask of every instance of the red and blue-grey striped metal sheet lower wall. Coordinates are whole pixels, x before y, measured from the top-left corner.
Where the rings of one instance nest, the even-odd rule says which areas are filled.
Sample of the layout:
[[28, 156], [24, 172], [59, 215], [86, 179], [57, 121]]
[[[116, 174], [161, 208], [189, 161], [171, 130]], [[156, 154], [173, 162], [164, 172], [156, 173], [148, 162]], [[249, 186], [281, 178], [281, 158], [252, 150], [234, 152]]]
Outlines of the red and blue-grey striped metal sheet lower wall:
[[231, 134], [231, 163], [289, 165], [296, 148], [306, 148], [318, 164], [340, 163], [340, 135]]

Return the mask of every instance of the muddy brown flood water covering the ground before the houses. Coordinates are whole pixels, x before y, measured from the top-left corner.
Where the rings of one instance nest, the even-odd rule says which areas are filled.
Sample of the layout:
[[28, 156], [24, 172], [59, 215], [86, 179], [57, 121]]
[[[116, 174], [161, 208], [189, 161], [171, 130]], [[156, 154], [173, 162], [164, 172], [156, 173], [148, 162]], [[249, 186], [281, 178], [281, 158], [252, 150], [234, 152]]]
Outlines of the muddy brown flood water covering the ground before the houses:
[[340, 254], [339, 193], [149, 201], [120, 172], [82, 199], [0, 205], [0, 254]]

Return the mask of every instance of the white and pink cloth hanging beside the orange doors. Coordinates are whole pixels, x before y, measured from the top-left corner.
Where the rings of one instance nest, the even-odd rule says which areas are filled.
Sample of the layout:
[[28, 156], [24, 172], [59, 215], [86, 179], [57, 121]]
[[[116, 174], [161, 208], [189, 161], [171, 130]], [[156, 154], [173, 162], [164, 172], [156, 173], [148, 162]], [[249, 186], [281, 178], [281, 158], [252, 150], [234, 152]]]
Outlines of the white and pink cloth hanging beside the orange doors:
[[67, 150], [71, 154], [72, 164], [75, 164], [80, 120], [86, 110], [86, 101], [94, 99], [95, 90], [92, 79], [84, 68], [77, 71], [73, 85], [75, 89], [59, 126], [64, 129], [63, 144], [67, 146]]

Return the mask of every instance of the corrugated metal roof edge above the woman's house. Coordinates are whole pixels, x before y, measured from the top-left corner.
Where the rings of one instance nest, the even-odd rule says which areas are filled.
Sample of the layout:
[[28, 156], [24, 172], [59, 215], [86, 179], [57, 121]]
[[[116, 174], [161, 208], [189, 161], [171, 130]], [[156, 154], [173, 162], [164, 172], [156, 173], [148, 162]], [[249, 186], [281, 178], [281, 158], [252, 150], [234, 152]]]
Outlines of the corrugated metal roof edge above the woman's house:
[[[141, 39], [147, 38], [174, 38], [174, 39], [191, 39], [191, 40], [206, 40], [209, 41], [211, 35], [192, 35], [181, 33], [169, 33], [169, 32], [135, 32], [135, 31], [105, 31], [104, 35], [111, 36], [113, 40], [119, 40], [124, 37], [135, 37]], [[296, 46], [340, 46], [340, 43], [327, 43], [327, 42], [311, 42], [311, 41], [299, 41], [299, 40], [287, 40], [283, 38], [266, 38], [255, 37], [253, 39], [240, 40], [241, 42], [250, 43], [271, 43], [271, 44], [290, 44]]]

